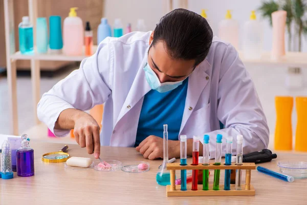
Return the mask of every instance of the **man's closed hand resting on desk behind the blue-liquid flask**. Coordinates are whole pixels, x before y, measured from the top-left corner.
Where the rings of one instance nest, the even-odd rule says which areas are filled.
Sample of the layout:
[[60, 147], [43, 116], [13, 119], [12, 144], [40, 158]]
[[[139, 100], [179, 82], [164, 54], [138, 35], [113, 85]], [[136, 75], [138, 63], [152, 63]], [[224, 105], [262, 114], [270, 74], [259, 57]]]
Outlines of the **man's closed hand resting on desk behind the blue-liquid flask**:
[[[140, 152], [146, 159], [163, 158], [163, 138], [155, 135], [146, 137], [136, 150]], [[180, 141], [168, 140], [168, 158], [180, 157]]]

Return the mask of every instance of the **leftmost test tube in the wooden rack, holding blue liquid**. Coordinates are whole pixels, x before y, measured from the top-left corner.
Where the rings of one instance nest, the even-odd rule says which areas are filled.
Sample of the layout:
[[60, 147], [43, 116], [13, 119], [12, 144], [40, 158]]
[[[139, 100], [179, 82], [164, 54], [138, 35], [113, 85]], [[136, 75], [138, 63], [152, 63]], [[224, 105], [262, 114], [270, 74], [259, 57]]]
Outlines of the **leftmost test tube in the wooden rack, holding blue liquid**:
[[[187, 166], [187, 135], [180, 135], [180, 165]], [[187, 191], [187, 170], [181, 170], [181, 191]]]

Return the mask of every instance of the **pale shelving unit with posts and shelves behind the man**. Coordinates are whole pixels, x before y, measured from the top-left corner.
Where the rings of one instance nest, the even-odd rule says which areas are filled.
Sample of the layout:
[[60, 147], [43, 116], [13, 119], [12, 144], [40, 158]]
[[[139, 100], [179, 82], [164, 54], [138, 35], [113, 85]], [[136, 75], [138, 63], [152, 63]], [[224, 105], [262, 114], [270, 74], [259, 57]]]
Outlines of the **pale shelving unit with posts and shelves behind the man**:
[[[162, 1], [162, 8], [165, 13], [173, 9], [172, 0]], [[33, 37], [35, 42], [35, 24], [37, 17], [37, 0], [28, 0], [30, 22], [33, 23]], [[179, 7], [188, 8], [187, 0], [179, 0]], [[5, 37], [6, 37], [6, 60], [7, 60], [7, 77], [8, 77], [8, 93], [9, 93], [9, 120], [11, 125], [11, 134], [18, 135], [18, 115], [17, 115], [17, 90], [16, 90], [16, 60], [24, 59], [31, 61], [31, 82], [32, 82], [32, 105], [33, 115], [35, 117], [36, 125], [39, 120], [36, 115], [37, 103], [40, 99], [40, 60], [63, 60], [63, 61], [81, 61], [86, 56], [67, 56], [64, 54], [38, 54], [23, 55], [19, 51], [15, 51], [14, 38], [14, 11], [13, 0], [4, 0], [4, 16], [5, 16]], [[96, 50], [97, 47], [94, 48]], [[240, 55], [242, 56], [242, 55]], [[242, 58], [246, 66], [249, 65], [273, 65], [280, 67], [304, 67], [307, 65], [307, 53], [287, 53], [287, 55], [280, 60], [272, 60], [270, 53], [264, 53], [259, 60], [245, 60]]]

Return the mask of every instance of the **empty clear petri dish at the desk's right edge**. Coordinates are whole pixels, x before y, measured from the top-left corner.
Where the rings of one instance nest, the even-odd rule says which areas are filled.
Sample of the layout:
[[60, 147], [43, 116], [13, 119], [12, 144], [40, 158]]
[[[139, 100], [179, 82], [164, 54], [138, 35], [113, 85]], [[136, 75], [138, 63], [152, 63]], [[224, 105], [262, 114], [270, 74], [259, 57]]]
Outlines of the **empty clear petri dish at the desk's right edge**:
[[279, 161], [278, 167], [282, 174], [287, 174], [297, 179], [307, 178], [307, 162], [305, 161]]

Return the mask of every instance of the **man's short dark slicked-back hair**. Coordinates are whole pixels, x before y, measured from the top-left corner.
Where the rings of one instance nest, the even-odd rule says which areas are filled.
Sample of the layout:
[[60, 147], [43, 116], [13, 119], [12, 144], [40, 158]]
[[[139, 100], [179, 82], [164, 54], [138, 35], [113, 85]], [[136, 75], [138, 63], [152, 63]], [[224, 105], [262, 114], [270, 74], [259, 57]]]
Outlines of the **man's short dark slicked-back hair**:
[[186, 9], [175, 9], [160, 19], [151, 46], [162, 41], [170, 57], [195, 59], [199, 65], [208, 55], [213, 33], [207, 20]]

